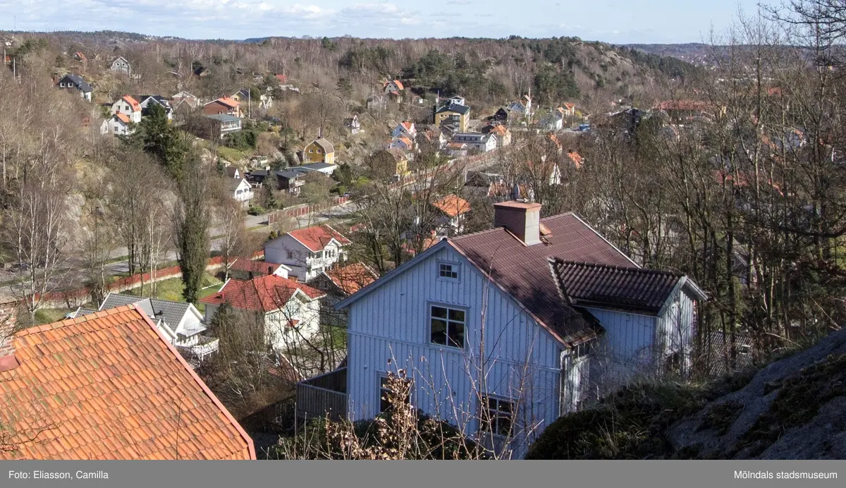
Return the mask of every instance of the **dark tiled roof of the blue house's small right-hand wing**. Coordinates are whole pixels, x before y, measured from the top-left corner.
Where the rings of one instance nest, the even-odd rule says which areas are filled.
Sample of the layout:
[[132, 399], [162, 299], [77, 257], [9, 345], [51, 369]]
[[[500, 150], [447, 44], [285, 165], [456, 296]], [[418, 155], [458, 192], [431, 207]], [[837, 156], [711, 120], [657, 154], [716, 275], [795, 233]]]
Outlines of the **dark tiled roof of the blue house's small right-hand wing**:
[[657, 313], [680, 273], [633, 266], [606, 266], [554, 259], [552, 270], [563, 298], [570, 304], [605, 306]]

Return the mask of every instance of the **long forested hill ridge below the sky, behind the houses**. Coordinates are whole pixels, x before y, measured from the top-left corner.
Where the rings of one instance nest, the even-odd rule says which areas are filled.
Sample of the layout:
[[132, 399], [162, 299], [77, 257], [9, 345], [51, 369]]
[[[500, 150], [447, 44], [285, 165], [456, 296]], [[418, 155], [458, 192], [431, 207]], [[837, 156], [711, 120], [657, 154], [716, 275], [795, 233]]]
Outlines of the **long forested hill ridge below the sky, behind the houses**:
[[574, 37], [399, 41], [271, 37], [248, 42], [188, 41], [113, 31], [17, 33], [16, 37], [19, 45], [32, 37], [46, 39], [59, 56], [83, 52], [89, 59], [102, 58], [101, 64], [121, 55], [156, 74], [184, 75], [205, 66], [219, 78], [207, 83], [209, 95], [233, 88], [224, 75], [285, 73], [300, 84], [322, 88], [334, 87], [344, 78], [353, 89], [358, 85], [360, 93], [353, 90], [351, 94], [358, 96], [366, 96], [374, 82], [398, 78], [409, 81], [409, 87], [421, 96], [424, 92], [460, 93], [477, 105], [497, 105], [532, 90], [536, 101], [547, 105], [585, 97], [636, 99], [656, 80], [684, 77], [695, 70], [677, 58]]

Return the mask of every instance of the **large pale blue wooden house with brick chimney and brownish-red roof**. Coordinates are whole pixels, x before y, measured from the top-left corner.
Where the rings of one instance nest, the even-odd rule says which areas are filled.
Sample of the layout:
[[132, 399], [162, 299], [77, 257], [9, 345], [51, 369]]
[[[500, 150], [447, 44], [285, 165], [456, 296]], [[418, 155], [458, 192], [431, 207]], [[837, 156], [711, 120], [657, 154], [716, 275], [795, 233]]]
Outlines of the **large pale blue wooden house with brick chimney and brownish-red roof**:
[[[441, 239], [337, 305], [348, 355], [329, 374], [340, 384], [323, 397], [332, 415], [373, 418], [387, 408], [383, 378], [402, 374], [415, 408], [485, 444], [510, 439], [520, 457], [583, 402], [640, 375], [684, 373], [706, 299], [693, 280], [638, 266], [573, 213], [494, 209], [495, 228]], [[479, 364], [483, 377], [469, 366]], [[298, 385], [298, 404], [314, 408], [300, 415], [323, 414], [313, 387]]]

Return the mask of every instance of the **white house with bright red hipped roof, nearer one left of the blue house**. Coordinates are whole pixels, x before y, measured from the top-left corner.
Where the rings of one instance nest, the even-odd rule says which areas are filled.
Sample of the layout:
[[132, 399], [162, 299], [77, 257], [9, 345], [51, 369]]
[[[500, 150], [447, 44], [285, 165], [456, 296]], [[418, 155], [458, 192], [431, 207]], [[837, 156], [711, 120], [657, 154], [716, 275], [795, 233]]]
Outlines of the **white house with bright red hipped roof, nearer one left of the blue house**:
[[325, 293], [304, 283], [264, 275], [251, 280], [228, 280], [217, 293], [200, 301], [210, 322], [221, 304], [255, 312], [265, 329], [267, 343], [285, 350], [312, 337], [320, 329], [320, 303]]

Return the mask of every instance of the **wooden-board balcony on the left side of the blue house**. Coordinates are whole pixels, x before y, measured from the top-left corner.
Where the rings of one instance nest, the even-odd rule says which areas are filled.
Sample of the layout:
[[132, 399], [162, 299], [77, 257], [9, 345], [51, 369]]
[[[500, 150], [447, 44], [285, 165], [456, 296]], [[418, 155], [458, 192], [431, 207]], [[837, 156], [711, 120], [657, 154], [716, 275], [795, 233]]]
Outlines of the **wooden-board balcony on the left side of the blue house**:
[[330, 371], [297, 383], [297, 416], [347, 418], [347, 369]]

